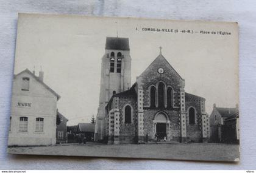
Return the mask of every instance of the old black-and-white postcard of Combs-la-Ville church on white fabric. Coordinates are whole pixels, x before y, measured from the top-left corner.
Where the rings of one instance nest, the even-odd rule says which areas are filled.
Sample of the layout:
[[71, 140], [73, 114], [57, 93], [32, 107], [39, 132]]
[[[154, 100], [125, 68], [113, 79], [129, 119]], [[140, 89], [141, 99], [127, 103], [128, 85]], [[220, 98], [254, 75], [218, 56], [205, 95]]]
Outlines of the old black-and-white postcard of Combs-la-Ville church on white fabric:
[[19, 13], [9, 154], [240, 161], [238, 23]]

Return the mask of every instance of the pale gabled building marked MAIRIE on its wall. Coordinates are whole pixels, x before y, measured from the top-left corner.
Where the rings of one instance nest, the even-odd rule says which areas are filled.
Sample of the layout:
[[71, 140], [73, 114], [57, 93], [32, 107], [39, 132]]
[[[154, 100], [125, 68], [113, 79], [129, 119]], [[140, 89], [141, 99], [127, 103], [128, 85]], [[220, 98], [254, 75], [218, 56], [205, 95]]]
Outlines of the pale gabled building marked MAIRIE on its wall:
[[9, 146], [56, 144], [57, 101], [54, 90], [39, 76], [26, 69], [13, 78]]

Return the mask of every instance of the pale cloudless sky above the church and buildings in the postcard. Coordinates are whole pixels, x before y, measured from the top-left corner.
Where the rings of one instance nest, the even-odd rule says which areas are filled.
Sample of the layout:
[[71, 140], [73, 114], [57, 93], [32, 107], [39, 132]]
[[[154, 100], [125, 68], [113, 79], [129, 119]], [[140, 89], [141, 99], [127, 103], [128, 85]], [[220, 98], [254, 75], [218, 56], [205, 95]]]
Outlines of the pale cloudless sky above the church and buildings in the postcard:
[[132, 84], [159, 55], [161, 46], [162, 55], [185, 79], [185, 92], [205, 98], [208, 114], [213, 103], [217, 107], [238, 104], [238, 27], [234, 22], [20, 14], [14, 73], [35, 67], [38, 75], [42, 69], [44, 83], [61, 96], [57, 107], [69, 119], [68, 125], [89, 123], [99, 105], [105, 39], [117, 35], [129, 38]]

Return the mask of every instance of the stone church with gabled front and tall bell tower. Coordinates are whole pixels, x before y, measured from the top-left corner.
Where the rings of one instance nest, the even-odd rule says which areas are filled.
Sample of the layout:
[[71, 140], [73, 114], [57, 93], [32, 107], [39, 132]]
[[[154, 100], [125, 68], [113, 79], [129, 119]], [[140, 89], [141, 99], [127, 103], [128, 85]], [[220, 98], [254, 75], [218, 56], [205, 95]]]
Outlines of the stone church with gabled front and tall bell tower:
[[107, 37], [94, 139], [108, 144], [208, 141], [205, 98], [159, 55], [131, 84], [129, 38]]

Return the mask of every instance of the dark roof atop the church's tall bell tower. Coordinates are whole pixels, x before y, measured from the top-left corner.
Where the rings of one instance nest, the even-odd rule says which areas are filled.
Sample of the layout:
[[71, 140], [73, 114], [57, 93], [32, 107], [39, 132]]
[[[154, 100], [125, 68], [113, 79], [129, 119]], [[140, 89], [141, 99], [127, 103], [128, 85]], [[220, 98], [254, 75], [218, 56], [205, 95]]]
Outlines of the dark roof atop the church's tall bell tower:
[[107, 37], [105, 49], [130, 50], [129, 38]]

